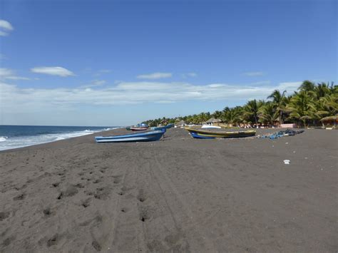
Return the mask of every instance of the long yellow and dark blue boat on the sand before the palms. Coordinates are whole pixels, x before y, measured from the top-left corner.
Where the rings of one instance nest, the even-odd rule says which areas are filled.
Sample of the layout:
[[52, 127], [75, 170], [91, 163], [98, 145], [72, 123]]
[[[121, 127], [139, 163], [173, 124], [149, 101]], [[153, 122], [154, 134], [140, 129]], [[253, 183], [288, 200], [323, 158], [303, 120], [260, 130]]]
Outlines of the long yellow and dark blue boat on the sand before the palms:
[[211, 130], [200, 130], [194, 128], [185, 128], [188, 130], [193, 138], [198, 139], [215, 139], [215, 138], [243, 138], [255, 136], [256, 131], [233, 131], [233, 132], [225, 132], [225, 131], [211, 131]]

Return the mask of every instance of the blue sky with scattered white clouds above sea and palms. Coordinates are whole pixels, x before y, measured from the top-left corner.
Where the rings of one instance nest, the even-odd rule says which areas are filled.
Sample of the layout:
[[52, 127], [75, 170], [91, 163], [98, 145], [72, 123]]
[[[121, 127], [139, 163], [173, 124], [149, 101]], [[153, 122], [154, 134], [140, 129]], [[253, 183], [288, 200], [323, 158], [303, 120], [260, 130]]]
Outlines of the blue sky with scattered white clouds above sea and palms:
[[335, 0], [0, 0], [0, 125], [130, 125], [337, 83]]

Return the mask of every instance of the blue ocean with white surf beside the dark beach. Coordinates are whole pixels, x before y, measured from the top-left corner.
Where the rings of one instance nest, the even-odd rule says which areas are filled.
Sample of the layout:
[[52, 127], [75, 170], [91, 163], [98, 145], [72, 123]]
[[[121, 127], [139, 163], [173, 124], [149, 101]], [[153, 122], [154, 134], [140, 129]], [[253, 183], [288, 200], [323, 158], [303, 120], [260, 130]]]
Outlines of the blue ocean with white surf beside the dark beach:
[[115, 128], [119, 127], [0, 125], [0, 150], [51, 143]]

